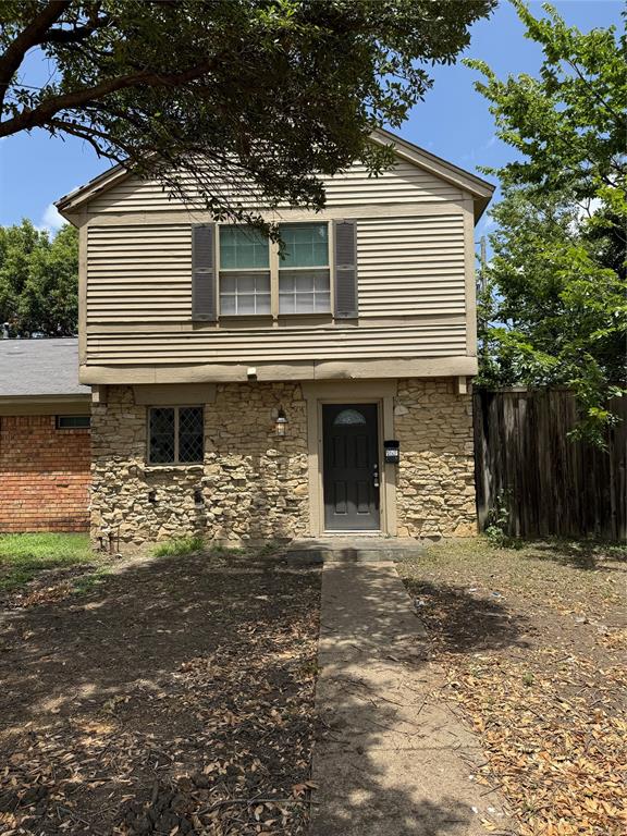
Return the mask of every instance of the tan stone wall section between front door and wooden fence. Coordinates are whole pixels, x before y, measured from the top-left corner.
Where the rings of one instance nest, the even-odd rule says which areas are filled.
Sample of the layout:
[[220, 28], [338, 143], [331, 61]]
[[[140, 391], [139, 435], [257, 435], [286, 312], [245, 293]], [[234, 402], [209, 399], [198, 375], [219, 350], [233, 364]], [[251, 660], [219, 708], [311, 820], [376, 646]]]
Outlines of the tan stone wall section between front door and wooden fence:
[[394, 433], [398, 536], [476, 534], [472, 395], [453, 380], [399, 380]]

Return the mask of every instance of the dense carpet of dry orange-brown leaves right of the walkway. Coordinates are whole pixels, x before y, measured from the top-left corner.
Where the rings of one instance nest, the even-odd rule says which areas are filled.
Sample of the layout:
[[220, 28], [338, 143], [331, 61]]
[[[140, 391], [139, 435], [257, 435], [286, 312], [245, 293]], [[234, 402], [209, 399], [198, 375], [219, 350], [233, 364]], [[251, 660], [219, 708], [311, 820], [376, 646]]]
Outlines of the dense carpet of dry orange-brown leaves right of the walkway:
[[627, 832], [627, 723], [615, 696], [625, 674], [592, 671], [577, 656], [543, 674], [555, 655], [541, 651], [533, 673], [529, 659], [475, 661], [472, 674], [455, 665], [450, 691], [482, 736], [489, 761], [481, 773], [513, 804], [521, 836], [619, 836]]

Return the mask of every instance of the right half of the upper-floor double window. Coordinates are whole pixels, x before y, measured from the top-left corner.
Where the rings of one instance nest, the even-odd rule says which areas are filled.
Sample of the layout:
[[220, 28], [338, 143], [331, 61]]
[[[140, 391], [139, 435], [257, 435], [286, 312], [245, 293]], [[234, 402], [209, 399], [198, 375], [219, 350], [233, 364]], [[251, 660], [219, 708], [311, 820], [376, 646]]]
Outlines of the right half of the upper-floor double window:
[[279, 262], [279, 312], [327, 314], [331, 310], [329, 226], [281, 224], [285, 254]]

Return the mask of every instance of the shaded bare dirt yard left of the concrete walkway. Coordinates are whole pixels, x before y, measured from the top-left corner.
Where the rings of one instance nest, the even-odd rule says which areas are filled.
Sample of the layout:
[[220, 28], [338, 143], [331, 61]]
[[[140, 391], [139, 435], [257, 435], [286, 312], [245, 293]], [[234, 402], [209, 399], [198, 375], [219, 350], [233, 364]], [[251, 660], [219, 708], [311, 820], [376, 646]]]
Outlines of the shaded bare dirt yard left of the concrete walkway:
[[319, 573], [193, 554], [0, 602], [0, 833], [306, 832]]

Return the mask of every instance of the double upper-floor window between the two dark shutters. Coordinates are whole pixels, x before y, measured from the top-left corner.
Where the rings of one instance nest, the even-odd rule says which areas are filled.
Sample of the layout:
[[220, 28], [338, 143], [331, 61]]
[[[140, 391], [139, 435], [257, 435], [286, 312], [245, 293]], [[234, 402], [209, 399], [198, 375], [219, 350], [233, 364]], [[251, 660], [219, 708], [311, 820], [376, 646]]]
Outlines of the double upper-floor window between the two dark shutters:
[[329, 314], [329, 225], [280, 226], [285, 248], [247, 226], [219, 228], [220, 315]]

